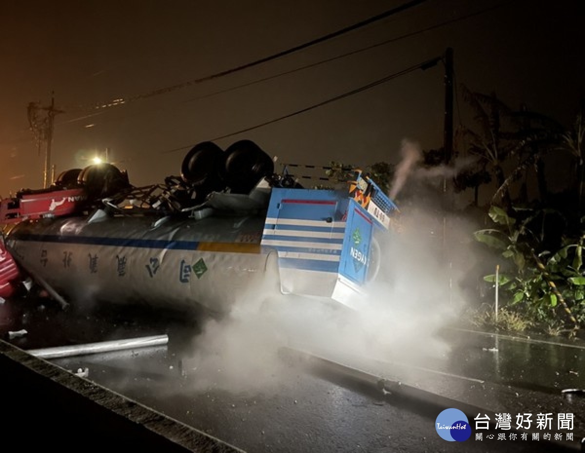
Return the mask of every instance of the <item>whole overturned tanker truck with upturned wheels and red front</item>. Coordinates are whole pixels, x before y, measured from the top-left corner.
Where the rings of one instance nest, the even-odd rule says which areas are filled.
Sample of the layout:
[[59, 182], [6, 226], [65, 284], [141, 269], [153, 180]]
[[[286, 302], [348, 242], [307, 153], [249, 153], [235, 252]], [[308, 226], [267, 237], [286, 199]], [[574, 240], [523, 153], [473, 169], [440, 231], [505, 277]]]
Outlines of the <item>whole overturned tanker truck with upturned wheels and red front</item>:
[[268, 284], [359, 309], [395, 211], [359, 170], [344, 189], [305, 189], [249, 140], [198, 144], [164, 184], [90, 165], [2, 200], [0, 292], [27, 278], [72, 303], [225, 313]]

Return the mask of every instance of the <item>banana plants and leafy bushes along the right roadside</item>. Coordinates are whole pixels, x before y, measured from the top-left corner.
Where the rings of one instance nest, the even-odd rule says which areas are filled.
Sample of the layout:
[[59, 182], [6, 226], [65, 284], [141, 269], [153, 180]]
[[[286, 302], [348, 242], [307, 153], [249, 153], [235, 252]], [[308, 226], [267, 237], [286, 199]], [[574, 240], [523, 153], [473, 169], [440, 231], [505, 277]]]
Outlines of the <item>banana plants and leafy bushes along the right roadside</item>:
[[[474, 237], [500, 255], [502, 269], [497, 280], [495, 274], [483, 280], [498, 285], [507, 313], [529, 322], [524, 330], [575, 336], [585, 327], [583, 106], [565, 128], [525, 108], [514, 112], [494, 95], [467, 91], [466, 99], [483, 133], [463, 130], [462, 151], [485, 162], [480, 171], [497, 181], [486, 206], [490, 227]], [[559, 168], [546, 172], [546, 165], [563, 158], [570, 174]], [[537, 191], [529, 197], [531, 176]], [[563, 184], [551, 178], [562, 178]], [[551, 182], [562, 191], [550, 191]]]

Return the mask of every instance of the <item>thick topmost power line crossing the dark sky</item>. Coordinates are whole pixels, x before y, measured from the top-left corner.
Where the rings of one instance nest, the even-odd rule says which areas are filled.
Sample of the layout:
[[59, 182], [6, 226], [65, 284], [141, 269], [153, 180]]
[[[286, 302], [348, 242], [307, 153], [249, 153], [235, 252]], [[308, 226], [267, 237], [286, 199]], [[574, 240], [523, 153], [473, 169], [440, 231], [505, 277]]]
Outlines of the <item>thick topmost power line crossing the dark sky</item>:
[[325, 41], [331, 40], [333, 38], [341, 36], [342, 34], [353, 32], [357, 29], [371, 25], [374, 22], [378, 22], [380, 20], [387, 19], [390, 16], [393, 16], [397, 13], [400, 13], [400, 12], [406, 11], [407, 9], [414, 8], [415, 6], [421, 5], [422, 3], [426, 2], [426, 1], [428, 1], [428, 0], [410, 0], [402, 5], [396, 6], [395, 8], [388, 9], [387, 11], [384, 11], [383, 13], [380, 13], [376, 16], [373, 16], [371, 18], [362, 20], [361, 22], [357, 22], [353, 25], [350, 25], [350, 26], [344, 27], [340, 30], [337, 30], [336, 32], [325, 34], [324, 36], [312, 39], [306, 43], [299, 44], [298, 46], [291, 47], [290, 49], [282, 50], [276, 54], [272, 54], [270, 56], [260, 58], [259, 60], [251, 61], [249, 63], [245, 63], [242, 65], [236, 66], [234, 68], [230, 68], [228, 70], [216, 72], [215, 74], [206, 75], [205, 77], [200, 77], [197, 79], [191, 79], [191, 80], [186, 81], [186, 82], [181, 82], [180, 84], [169, 85], [168, 87], [158, 88], [158, 89], [155, 89], [153, 91], [139, 94], [139, 95], [135, 95], [135, 96], [131, 96], [131, 97], [126, 98], [126, 99], [118, 97], [112, 101], [101, 103], [100, 105], [95, 106], [94, 109], [105, 109], [105, 108], [113, 107], [116, 105], [123, 105], [123, 104], [128, 103], [128, 102], [138, 101], [139, 99], [151, 98], [153, 96], [166, 94], [166, 93], [171, 92], [171, 91], [176, 91], [177, 89], [189, 87], [191, 85], [199, 84], [201, 82], [207, 82], [209, 80], [212, 80], [212, 79], [215, 79], [218, 77], [224, 77], [225, 75], [229, 75], [229, 74], [233, 74], [235, 72], [243, 71], [245, 69], [252, 68], [254, 66], [257, 66], [257, 65], [260, 65], [263, 63], [267, 63], [268, 61], [276, 60], [277, 58], [281, 58], [281, 57], [290, 55], [292, 53], [298, 52], [300, 50], [307, 49], [307, 47], [315, 46], [316, 44], [320, 44], [320, 43], [323, 43]]

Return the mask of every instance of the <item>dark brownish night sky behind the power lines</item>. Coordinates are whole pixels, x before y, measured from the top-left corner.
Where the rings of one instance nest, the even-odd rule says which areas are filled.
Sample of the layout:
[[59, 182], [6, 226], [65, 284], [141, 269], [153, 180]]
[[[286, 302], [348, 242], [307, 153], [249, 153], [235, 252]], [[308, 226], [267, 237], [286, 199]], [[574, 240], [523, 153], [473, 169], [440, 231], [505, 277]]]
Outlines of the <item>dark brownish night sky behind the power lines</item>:
[[[188, 148], [168, 150], [352, 91], [439, 56], [449, 46], [455, 51], [457, 84], [494, 91], [513, 108], [524, 102], [565, 125], [573, 120], [585, 95], [585, 2], [580, 0], [428, 0], [249, 70], [123, 106], [92, 109], [237, 67], [404, 2], [5, 0], [0, 13], [0, 195], [42, 186], [44, 158], [28, 130], [26, 106], [31, 101], [49, 105], [51, 91], [57, 108], [65, 111], [56, 117], [54, 129], [57, 174], [84, 167], [108, 147], [111, 160], [128, 170], [135, 185], [180, 173]], [[209, 96], [496, 5], [503, 6], [331, 63]], [[239, 139], [254, 140], [279, 162], [397, 162], [405, 137], [423, 148], [442, 145], [443, 74], [442, 64], [415, 71], [216, 143], [225, 149]], [[457, 97], [455, 123], [469, 124], [469, 109], [462, 96]]]

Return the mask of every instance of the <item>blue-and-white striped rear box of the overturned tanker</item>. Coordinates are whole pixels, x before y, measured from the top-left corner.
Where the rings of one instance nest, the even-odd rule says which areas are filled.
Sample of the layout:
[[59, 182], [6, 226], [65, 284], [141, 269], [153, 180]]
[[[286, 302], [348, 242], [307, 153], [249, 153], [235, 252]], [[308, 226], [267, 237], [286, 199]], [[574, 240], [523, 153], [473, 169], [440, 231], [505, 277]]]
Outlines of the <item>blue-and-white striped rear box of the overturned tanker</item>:
[[361, 172], [349, 189], [273, 189], [261, 245], [277, 250], [281, 292], [364, 303], [380, 265], [374, 231], [387, 232], [397, 208]]

